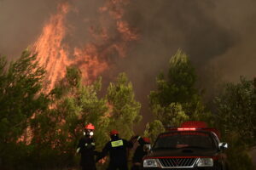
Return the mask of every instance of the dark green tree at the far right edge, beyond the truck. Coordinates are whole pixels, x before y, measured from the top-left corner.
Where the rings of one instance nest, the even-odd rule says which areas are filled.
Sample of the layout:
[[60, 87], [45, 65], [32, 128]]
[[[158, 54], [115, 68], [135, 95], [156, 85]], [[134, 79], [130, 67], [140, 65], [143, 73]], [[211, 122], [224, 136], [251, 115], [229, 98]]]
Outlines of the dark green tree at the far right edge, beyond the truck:
[[227, 83], [224, 92], [215, 99], [214, 115], [218, 127], [225, 132], [236, 132], [246, 145], [255, 145], [256, 113], [254, 111], [253, 81], [241, 77], [241, 82]]

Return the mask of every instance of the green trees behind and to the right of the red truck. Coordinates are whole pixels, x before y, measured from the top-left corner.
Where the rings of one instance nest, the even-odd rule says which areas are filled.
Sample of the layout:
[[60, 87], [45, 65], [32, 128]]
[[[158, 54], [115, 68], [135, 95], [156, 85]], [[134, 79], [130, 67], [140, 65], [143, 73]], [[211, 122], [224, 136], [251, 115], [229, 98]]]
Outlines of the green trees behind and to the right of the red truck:
[[224, 84], [214, 98], [213, 109], [201, 102], [203, 96], [195, 82], [189, 57], [178, 50], [170, 59], [167, 77], [161, 73], [156, 79], [157, 89], [148, 96], [156, 120], [147, 124], [145, 135], [155, 139], [162, 127], [178, 127], [188, 120], [205, 121], [221, 130], [221, 140], [230, 144], [230, 169], [253, 169], [248, 152], [256, 141], [256, 81], [254, 87], [253, 81], [243, 77], [240, 83]]

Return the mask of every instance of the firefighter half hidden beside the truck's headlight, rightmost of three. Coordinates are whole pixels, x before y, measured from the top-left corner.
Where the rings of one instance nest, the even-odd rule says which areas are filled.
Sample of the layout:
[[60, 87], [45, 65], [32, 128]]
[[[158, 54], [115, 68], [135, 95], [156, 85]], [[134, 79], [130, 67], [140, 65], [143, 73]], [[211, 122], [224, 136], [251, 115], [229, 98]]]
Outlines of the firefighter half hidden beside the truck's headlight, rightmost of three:
[[138, 137], [138, 146], [134, 152], [132, 157], [132, 167], [131, 170], [140, 170], [143, 168], [143, 156], [148, 154], [148, 148], [145, 144], [150, 144], [150, 140], [148, 138]]

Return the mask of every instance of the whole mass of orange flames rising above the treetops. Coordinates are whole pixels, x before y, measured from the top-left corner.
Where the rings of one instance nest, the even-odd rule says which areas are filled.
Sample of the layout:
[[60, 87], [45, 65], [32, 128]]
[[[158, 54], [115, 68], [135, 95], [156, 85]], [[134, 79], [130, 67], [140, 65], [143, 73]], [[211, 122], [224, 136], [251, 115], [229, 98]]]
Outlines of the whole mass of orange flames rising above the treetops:
[[[99, 19], [100, 28], [90, 26], [87, 29], [94, 42], [86, 42], [82, 48], [71, 48], [70, 44], [63, 42], [67, 36], [66, 16], [72, 7], [68, 3], [61, 3], [58, 6], [57, 13], [50, 16], [33, 45], [34, 52], [38, 54], [39, 64], [47, 71], [47, 91], [54, 88], [55, 82], [65, 76], [68, 65], [79, 66], [83, 79], [90, 83], [103, 71], [108, 70], [111, 64], [110, 55], [125, 57], [128, 43], [138, 39], [137, 32], [131, 30], [129, 24], [123, 20], [124, 8], [128, 3], [128, 0], [108, 0], [99, 8], [98, 12], [102, 17], [108, 14], [109, 20], [114, 21], [115, 27], [104, 26], [102, 19]], [[114, 35], [110, 33], [113, 30]]]

